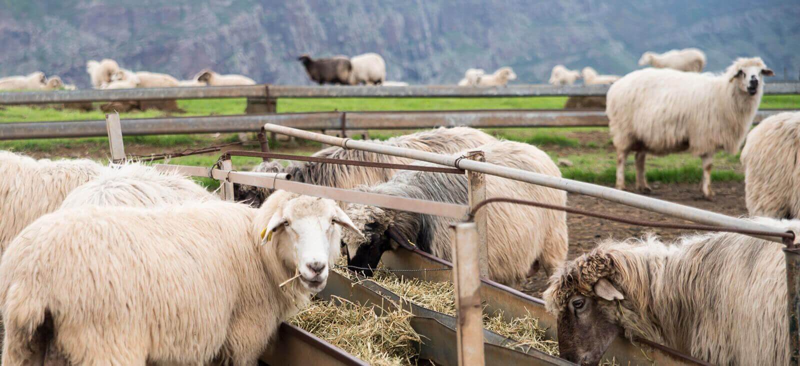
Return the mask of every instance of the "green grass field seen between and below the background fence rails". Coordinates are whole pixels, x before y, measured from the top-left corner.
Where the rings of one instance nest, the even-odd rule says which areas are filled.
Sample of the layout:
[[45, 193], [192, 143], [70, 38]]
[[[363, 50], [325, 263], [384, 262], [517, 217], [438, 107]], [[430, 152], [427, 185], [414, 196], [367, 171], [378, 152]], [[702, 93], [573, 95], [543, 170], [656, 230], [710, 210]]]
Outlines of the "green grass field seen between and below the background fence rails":
[[[426, 109], [558, 109], [562, 108], [566, 97], [518, 97], [518, 98], [297, 98], [278, 101], [278, 113], [332, 111], [332, 110], [426, 110]], [[174, 116], [231, 115], [243, 113], [246, 100], [211, 99], [178, 101], [183, 113]], [[800, 109], [800, 96], [766, 96], [762, 100], [764, 109]], [[125, 118], [163, 117], [159, 111], [121, 113]], [[0, 107], [0, 123], [29, 121], [75, 121], [102, 120], [104, 113], [99, 110], [80, 112], [57, 110], [42, 107], [5, 106]], [[402, 130], [370, 131], [370, 137], [386, 139], [394, 135], [409, 133]], [[518, 128], [486, 129], [497, 137], [522, 141], [537, 145], [553, 157], [573, 163], [562, 167], [564, 177], [589, 181], [598, 184], [614, 183], [614, 153], [608, 138], [607, 129], [598, 128]], [[180, 151], [198, 149], [207, 145], [217, 145], [236, 141], [234, 134], [212, 136], [204, 135], [166, 135], [146, 137], [125, 137], [129, 153], [159, 153], [164, 150]], [[318, 144], [294, 141], [274, 146], [279, 151], [301, 153], [304, 155], [318, 149]], [[252, 147], [254, 148], [254, 146]], [[94, 157], [104, 158], [108, 152], [105, 137], [49, 140], [0, 141], [0, 149], [10, 149], [31, 153], [39, 157]], [[210, 166], [216, 161], [216, 154], [195, 157], [179, 157], [172, 163]], [[236, 169], [250, 169], [258, 164], [258, 158], [236, 157]], [[629, 158], [632, 165], [633, 157]], [[664, 183], [698, 182], [702, 175], [700, 160], [688, 154], [673, 154], [666, 157], [650, 157], [647, 162], [650, 181]], [[626, 179], [633, 181], [633, 167], [628, 169]], [[715, 181], [741, 181], [742, 169], [738, 156], [718, 153], [714, 159]], [[215, 182], [204, 181], [215, 186]]]

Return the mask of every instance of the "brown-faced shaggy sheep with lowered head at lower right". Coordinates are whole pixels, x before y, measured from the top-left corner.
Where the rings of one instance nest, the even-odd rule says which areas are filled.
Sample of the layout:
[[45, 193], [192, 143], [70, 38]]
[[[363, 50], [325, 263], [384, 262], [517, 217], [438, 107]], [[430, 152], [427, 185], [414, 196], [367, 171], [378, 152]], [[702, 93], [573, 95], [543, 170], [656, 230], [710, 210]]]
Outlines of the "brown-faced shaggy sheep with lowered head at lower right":
[[[800, 233], [800, 221], [756, 222]], [[711, 364], [789, 364], [783, 245], [734, 233], [608, 241], [566, 263], [544, 293], [561, 357], [598, 364], [642, 337]]]

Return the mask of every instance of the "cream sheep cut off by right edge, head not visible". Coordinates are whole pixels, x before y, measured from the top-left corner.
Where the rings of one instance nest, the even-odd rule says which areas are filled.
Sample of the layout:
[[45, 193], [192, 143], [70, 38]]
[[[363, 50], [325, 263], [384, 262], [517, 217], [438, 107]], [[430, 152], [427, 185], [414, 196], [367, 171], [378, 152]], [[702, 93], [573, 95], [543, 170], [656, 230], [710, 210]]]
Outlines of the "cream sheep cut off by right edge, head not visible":
[[767, 117], [742, 149], [750, 216], [800, 218], [800, 112]]

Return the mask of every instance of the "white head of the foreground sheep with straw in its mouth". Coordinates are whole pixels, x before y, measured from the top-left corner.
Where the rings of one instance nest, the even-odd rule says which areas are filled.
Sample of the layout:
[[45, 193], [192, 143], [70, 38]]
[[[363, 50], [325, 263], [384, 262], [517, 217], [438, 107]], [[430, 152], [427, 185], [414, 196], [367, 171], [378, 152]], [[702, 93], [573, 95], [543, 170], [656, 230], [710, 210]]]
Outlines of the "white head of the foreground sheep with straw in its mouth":
[[296, 270], [304, 288], [319, 292], [338, 258], [340, 225], [361, 235], [335, 201], [297, 195], [278, 206], [262, 233], [262, 243], [269, 242], [266, 245], [274, 247], [283, 265]]

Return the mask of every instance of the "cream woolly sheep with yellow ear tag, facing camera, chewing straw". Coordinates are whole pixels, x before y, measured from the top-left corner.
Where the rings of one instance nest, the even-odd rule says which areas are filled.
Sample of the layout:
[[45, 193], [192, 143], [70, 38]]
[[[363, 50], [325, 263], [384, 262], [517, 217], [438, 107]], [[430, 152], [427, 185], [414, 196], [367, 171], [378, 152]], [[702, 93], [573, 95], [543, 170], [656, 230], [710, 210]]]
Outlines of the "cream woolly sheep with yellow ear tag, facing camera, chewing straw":
[[325, 287], [339, 226], [357, 230], [334, 201], [287, 192], [261, 209], [51, 213], [0, 264], [3, 362], [256, 364], [281, 321]]

